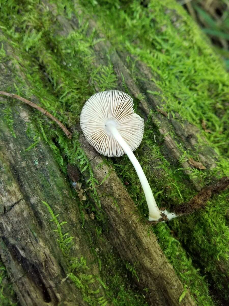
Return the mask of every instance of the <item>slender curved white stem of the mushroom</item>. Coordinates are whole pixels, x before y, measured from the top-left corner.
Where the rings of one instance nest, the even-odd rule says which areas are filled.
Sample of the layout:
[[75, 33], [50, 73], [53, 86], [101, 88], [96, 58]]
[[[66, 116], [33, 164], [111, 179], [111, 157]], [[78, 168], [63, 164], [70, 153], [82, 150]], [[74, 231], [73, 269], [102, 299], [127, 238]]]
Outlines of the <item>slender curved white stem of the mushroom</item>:
[[130, 161], [132, 162], [137, 175], [139, 177], [140, 183], [142, 185], [143, 191], [145, 193], [146, 202], [149, 209], [149, 221], [158, 221], [161, 218], [161, 211], [159, 210], [156, 201], [153, 196], [153, 192], [150, 188], [150, 185], [147, 181], [147, 178], [142, 170], [142, 167], [138, 160], [136, 159], [135, 155], [133, 154], [129, 145], [125, 142], [122, 138], [116, 127], [111, 122], [106, 122], [106, 128], [111, 134], [115, 137], [118, 141], [119, 145], [122, 147], [125, 154], [129, 157]]

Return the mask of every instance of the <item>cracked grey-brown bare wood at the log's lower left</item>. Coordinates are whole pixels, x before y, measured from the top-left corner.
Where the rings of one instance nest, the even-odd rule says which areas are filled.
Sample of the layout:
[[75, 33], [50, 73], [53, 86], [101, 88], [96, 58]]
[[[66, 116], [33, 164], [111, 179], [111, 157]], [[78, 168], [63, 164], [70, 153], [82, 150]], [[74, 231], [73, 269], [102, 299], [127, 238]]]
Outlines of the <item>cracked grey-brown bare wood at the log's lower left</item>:
[[[3, 88], [13, 88], [10, 65], [1, 66], [2, 72], [8, 71], [0, 76]], [[2, 107], [4, 104], [0, 113]], [[77, 202], [49, 146], [41, 141], [33, 150], [26, 150], [31, 145], [26, 135], [31, 110], [20, 105], [15, 108], [16, 138], [0, 116], [0, 257], [21, 306], [86, 305], [80, 290], [66, 279], [66, 259], [42, 204], [49, 203], [53, 211], [60, 212], [61, 221], [67, 220], [63, 228], [75, 237], [74, 256], [91, 261]], [[97, 265], [90, 266], [88, 273], [99, 275]], [[91, 289], [98, 285], [92, 284]]]

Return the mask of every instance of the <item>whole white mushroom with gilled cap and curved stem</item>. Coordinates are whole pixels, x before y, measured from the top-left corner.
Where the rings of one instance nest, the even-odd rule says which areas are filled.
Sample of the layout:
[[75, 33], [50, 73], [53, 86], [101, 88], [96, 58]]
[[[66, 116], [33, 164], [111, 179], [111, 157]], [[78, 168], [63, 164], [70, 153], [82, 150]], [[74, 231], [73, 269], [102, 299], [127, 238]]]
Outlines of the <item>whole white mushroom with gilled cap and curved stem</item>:
[[142, 167], [133, 151], [140, 145], [144, 120], [134, 113], [133, 99], [118, 90], [102, 91], [91, 96], [82, 108], [80, 125], [86, 140], [100, 154], [113, 157], [124, 153], [139, 177], [149, 209], [149, 221], [158, 221], [163, 213], [169, 219], [175, 214], [160, 211]]

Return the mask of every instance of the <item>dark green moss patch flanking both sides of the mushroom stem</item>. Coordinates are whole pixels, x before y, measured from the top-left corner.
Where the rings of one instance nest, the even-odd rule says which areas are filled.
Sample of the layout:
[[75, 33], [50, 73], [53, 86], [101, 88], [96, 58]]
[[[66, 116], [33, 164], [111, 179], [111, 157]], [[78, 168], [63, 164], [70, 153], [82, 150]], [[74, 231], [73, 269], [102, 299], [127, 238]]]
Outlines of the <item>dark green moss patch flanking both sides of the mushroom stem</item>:
[[[154, 135], [157, 143], [154, 142]], [[172, 165], [162, 155], [158, 146], [160, 142], [163, 142], [163, 137], [149, 117], [145, 124], [142, 143], [135, 151], [135, 155], [143, 166], [158, 206], [163, 207], [166, 204], [167, 207], [173, 209], [174, 206], [189, 200], [195, 194], [195, 191], [189, 182], [189, 177], [184, 175], [182, 169], [178, 168], [177, 165]], [[140, 213], [147, 216], [144, 193], [128, 157], [123, 156], [122, 160], [114, 158], [113, 161], [116, 172], [123, 183], [128, 182], [126, 188], [137, 203]], [[186, 183], [185, 190], [184, 181]]]

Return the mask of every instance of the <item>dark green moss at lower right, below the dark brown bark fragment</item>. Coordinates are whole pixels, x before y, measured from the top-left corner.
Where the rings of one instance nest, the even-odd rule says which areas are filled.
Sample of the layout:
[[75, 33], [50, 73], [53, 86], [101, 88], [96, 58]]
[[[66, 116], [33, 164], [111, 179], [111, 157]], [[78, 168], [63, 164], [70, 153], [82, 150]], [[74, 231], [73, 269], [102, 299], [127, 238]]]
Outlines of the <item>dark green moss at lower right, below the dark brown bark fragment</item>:
[[[214, 196], [209, 201], [206, 211], [182, 218], [182, 222], [173, 220], [169, 226], [176, 238], [194, 258], [195, 266], [208, 276], [212, 290], [221, 290], [225, 300], [228, 299], [228, 283], [226, 281], [229, 265], [228, 226], [226, 211], [228, 209], [227, 192]], [[211, 218], [209, 218], [209, 215]], [[197, 226], [193, 227], [193, 224]], [[184, 235], [187, 228], [189, 236]], [[220, 233], [216, 235], [216, 233]], [[205, 237], [205, 239], [203, 239]], [[220, 272], [219, 272], [220, 271]], [[222, 278], [224, 282], [222, 283]]]

